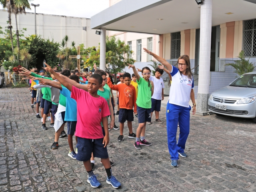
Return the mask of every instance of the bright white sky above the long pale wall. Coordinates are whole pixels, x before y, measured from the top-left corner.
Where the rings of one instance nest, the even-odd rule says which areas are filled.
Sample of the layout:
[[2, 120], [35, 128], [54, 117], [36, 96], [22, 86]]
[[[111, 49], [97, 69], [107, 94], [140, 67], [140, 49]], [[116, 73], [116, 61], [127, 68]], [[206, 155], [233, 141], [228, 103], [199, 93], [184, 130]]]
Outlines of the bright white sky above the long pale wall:
[[[109, 0], [32, 0], [30, 3], [40, 4], [36, 13], [83, 18], [91, 18], [109, 7]], [[34, 12], [34, 7], [31, 6], [27, 12]]]

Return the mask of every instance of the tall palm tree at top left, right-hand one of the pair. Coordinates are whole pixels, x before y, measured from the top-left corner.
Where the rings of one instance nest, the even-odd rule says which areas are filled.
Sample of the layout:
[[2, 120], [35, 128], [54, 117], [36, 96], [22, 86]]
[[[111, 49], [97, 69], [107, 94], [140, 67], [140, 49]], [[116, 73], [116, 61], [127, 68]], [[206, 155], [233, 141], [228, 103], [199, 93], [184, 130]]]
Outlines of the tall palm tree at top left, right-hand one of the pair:
[[25, 13], [26, 14], [26, 8], [30, 8], [29, 2], [30, 0], [13, 0], [14, 3], [14, 14], [15, 14], [15, 20], [16, 20], [16, 39], [17, 39], [17, 47], [20, 49], [20, 38], [19, 38], [19, 30], [18, 30], [18, 23], [17, 23], [17, 15], [19, 13]]

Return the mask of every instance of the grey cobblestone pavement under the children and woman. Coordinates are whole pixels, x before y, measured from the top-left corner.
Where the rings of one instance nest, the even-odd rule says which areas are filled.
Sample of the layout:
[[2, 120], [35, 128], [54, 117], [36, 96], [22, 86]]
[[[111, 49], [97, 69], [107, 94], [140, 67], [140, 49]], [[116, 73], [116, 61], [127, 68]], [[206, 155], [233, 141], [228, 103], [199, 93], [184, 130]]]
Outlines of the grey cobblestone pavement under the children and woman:
[[[188, 158], [180, 158], [178, 168], [170, 165], [165, 122], [147, 125], [146, 139], [152, 146], [142, 146], [142, 150], [135, 149], [135, 140], [127, 137], [127, 124], [124, 142], [117, 142], [119, 130], [111, 130], [108, 152], [122, 187], [106, 184], [106, 172], [96, 158], [94, 173], [102, 187], [94, 189], [86, 182], [82, 162], [68, 157], [67, 138], [60, 138], [58, 150], [50, 149], [54, 128], [42, 130], [36, 109], [30, 108], [27, 88], [8, 90], [15, 100], [0, 102], [1, 192], [256, 191], [256, 125], [250, 119], [191, 116]], [[0, 96], [10, 100], [5, 88], [0, 89]], [[165, 109], [161, 110], [160, 119], [166, 121]], [[134, 132], [137, 126], [136, 120]]]

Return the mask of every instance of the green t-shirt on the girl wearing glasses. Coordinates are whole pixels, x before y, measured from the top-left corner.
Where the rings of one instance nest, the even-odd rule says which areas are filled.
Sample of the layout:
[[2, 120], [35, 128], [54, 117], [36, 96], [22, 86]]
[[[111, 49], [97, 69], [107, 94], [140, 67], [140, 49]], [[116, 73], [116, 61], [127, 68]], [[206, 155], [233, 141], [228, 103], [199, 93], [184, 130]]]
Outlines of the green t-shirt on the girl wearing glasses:
[[140, 78], [138, 81], [138, 97], [136, 104], [137, 106], [145, 109], [151, 108], [151, 92], [152, 86], [148, 86], [148, 81], [144, 80], [144, 78]]

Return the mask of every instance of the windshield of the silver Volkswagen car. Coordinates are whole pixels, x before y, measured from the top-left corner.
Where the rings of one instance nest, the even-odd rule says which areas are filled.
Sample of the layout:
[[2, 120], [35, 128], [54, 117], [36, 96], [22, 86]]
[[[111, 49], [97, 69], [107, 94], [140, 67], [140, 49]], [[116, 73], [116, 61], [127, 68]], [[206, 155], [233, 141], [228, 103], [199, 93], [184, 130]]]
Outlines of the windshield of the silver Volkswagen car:
[[237, 78], [229, 86], [256, 88], [256, 74], [244, 74]]

